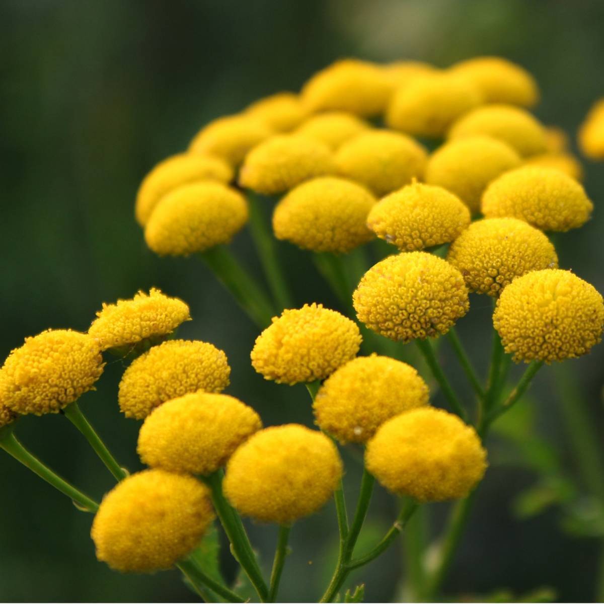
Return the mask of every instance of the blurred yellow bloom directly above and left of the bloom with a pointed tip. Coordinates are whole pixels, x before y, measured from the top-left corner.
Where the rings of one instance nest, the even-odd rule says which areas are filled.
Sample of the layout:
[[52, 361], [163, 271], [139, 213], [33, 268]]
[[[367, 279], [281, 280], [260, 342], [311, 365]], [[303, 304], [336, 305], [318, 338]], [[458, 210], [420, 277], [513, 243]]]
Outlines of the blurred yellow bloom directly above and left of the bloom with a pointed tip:
[[339, 173], [382, 196], [421, 178], [428, 155], [404, 134], [369, 130], [344, 143], [336, 153]]

